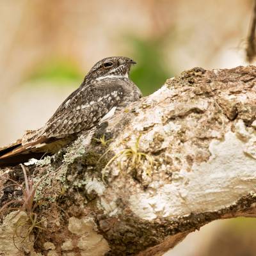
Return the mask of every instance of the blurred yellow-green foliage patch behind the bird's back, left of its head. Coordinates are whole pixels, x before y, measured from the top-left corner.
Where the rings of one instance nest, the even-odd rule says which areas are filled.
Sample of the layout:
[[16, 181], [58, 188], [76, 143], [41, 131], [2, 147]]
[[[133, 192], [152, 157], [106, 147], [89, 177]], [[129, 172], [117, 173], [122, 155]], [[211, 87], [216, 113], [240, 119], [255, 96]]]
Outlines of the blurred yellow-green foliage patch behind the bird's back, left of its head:
[[[35, 67], [28, 76], [28, 81], [76, 82], [83, 81], [83, 73], [72, 61], [54, 58]], [[57, 84], [57, 83], [56, 83]], [[61, 84], [61, 83], [58, 83]]]

